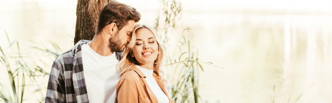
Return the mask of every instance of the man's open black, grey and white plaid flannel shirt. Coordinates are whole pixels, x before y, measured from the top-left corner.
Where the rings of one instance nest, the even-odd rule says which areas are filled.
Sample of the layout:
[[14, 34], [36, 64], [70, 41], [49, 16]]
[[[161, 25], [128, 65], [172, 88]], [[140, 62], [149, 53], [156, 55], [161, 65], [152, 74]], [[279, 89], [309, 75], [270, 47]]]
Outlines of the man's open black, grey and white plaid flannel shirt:
[[[76, 43], [72, 50], [60, 54], [53, 62], [48, 79], [45, 103], [89, 103], [83, 73], [81, 47], [88, 40]], [[121, 53], [116, 52], [117, 59]]]

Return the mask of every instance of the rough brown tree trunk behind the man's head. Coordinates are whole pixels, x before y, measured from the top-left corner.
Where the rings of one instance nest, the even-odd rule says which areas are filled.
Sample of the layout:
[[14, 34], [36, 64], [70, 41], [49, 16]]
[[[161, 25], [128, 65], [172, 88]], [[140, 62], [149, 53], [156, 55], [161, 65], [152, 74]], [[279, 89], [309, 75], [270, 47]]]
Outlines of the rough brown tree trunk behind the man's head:
[[111, 0], [78, 0], [74, 45], [80, 40], [92, 40], [96, 33], [99, 13]]

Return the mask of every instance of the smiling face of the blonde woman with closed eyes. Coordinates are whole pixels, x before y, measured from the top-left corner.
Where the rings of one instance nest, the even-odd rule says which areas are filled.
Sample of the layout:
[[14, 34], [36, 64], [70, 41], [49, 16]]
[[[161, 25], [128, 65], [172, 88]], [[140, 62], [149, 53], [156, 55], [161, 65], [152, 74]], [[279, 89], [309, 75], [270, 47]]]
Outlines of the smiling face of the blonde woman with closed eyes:
[[136, 30], [136, 42], [130, 56], [135, 57], [139, 65], [153, 65], [158, 53], [158, 44], [153, 33], [146, 28]]

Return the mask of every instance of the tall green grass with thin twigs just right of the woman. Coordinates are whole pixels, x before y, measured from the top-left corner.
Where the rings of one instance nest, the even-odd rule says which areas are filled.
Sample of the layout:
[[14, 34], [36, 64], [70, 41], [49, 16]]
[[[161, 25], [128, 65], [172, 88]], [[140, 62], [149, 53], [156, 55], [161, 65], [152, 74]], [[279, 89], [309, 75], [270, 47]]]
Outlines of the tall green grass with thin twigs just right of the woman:
[[[189, 32], [189, 27], [183, 31]], [[183, 41], [181, 41], [182, 39]], [[183, 36], [183, 33], [180, 36], [176, 47], [179, 49], [175, 49], [173, 52], [170, 59], [172, 61], [170, 61], [169, 64], [164, 65], [171, 66], [170, 68], [173, 68], [170, 69], [173, 70], [173, 72], [168, 72], [168, 75], [170, 75], [168, 78], [171, 80], [170, 91], [172, 99], [178, 103], [199, 103], [199, 101], [203, 101], [203, 99], [199, 96], [199, 72], [204, 72], [204, 68], [201, 63], [209, 65], [213, 65], [213, 63], [199, 61], [198, 50], [194, 51], [191, 48], [190, 40], [186, 39]], [[178, 57], [174, 57], [176, 50], [178, 50], [179, 54], [181, 54]], [[216, 65], [213, 66], [222, 68]]]

